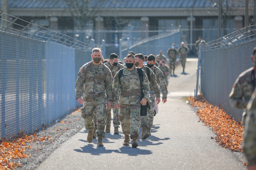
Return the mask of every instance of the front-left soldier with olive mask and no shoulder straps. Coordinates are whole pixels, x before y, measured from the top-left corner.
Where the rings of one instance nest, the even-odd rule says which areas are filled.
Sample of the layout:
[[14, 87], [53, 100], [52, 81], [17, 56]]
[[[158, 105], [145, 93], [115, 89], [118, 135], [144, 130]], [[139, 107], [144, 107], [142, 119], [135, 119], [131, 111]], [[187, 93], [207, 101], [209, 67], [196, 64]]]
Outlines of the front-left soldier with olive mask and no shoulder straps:
[[[88, 130], [87, 141], [92, 142], [94, 130], [94, 110], [97, 111], [97, 146], [104, 146], [102, 137], [105, 135], [106, 107], [112, 101], [112, 75], [108, 67], [100, 62], [101, 50], [93, 48], [92, 61], [80, 68], [76, 81], [76, 99], [83, 104], [81, 112], [84, 115], [84, 124]], [[108, 102], [107, 102], [108, 101]]]

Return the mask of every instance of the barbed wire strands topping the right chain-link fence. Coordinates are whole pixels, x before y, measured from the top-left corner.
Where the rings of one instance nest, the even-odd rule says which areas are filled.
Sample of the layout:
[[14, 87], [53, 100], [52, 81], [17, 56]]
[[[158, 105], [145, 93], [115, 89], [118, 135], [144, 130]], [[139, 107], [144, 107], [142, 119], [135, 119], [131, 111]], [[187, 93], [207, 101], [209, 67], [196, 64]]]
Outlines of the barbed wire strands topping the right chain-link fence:
[[[203, 49], [220, 48], [225, 46], [230, 46], [232, 44], [240, 43], [245, 40], [256, 37], [256, 30], [254, 29], [256, 25], [246, 26], [242, 29], [238, 29], [230, 34], [225, 35], [219, 39], [201, 44]], [[248, 31], [247, 31], [248, 30]]]

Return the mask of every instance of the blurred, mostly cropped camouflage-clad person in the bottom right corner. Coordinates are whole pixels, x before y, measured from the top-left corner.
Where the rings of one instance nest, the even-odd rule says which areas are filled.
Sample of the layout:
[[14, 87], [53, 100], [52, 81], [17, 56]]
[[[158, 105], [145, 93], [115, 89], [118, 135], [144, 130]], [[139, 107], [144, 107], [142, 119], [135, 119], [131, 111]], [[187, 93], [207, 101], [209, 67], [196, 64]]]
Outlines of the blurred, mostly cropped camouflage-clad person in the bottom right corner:
[[243, 131], [243, 152], [247, 157], [248, 169], [256, 169], [256, 89], [246, 107], [247, 117]]

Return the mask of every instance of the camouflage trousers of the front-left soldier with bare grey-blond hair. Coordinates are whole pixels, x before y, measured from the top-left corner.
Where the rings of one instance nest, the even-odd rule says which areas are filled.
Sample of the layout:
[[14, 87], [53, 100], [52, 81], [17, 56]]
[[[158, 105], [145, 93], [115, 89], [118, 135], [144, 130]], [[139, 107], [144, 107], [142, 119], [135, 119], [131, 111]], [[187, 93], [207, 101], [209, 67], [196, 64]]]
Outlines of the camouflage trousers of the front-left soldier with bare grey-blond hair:
[[86, 130], [94, 130], [94, 111], [96, 110], [96, 122], [97, 122], [97, 131], [98, 135], [105, 135], [105, 117], [106, 117], [106, 99], [101, 98], [94, 101], [83, 101], [84, 107], [81, 109], [82, 114], [84, 115], [84, 124]]

